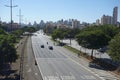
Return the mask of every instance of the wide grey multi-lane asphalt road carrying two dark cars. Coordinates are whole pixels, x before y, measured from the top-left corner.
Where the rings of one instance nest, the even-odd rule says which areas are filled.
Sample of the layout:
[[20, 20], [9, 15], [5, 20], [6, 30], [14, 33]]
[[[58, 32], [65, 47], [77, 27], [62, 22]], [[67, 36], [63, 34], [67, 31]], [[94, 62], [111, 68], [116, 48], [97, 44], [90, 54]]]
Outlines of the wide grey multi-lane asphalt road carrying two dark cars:
[[[44, 45], [44, 48], [41, 48], [41, 45]], [[53, 46], [53, 50], [48, 48], [49, 45]], [[53, 42], [41, 33], [32, 36], [32, 47], [43, 80], [101, 80], [66, 56], [64, 51], [59, 50], [59, 46], [54, 46]]]

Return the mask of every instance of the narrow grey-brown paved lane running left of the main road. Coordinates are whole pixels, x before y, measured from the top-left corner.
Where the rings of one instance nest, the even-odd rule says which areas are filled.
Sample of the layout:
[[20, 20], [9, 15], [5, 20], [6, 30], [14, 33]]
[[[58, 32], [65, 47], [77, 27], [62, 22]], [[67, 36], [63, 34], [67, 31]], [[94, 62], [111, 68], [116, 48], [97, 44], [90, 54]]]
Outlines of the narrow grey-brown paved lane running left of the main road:
[[32, 50], [31, 38], [28, 38], [24, 61], [24, 80], [42, 80], [38, 66], [35, 65], [35, 57]]

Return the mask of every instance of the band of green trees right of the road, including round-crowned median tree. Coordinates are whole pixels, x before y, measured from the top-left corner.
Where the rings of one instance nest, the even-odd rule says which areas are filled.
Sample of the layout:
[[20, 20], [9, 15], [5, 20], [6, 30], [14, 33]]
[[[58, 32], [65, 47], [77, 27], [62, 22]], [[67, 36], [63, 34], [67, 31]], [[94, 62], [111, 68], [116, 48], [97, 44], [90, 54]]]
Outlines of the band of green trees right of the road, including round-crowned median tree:
[[[109, 41], [120, 32], [120, 28], [112, 25], [89, 26], [82, 30], [79, 29], [57, 29], [52, 31], [52, 39], [62, 40], [64, 38], [76, 38], [79, 45], [93, 50], [108, 46]], [[111, 48], [108, 48], [111, 49]]]

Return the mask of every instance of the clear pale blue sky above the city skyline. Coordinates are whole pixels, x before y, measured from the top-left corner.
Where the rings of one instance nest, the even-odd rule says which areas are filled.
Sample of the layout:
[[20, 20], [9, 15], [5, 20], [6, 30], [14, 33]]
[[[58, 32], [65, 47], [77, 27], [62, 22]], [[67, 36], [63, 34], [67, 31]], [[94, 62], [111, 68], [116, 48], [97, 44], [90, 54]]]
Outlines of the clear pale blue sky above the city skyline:
[[[12, 0], [13, 21], [19, 22], [21, 9], [22, 23], [39, 23], [41, 20], [58, 21], [77, 19], [80, 22], [93, 23], [103, 14], [112, 16], [113, 8], [118, 6], [118, 21], [120, 22], [120, 0]], [[0, 0], [0, 18], [10, 22], [10, 0]]]

